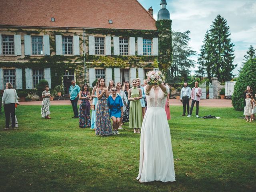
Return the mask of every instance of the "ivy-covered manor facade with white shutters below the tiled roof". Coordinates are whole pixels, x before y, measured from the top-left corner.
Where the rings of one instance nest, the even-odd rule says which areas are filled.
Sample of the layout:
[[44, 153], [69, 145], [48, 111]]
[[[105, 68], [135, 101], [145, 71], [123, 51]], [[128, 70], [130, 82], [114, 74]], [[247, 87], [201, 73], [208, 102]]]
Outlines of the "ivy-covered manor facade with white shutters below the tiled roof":
[[90, 86], [99, 77], [107, 84], [143, 80], [170, 65], [170, 27], [171, 20], [157, 21], [155, 30], [0, 25], [0, 89], [6, 82], [33, 89], [45, 79], [68, 93], [72, 79]]

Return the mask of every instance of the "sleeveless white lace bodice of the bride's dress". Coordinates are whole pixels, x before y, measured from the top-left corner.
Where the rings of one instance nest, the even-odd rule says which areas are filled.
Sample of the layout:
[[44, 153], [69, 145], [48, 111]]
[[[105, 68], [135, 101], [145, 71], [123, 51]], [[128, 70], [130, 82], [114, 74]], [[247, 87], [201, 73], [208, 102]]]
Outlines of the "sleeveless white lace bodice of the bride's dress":
[[155, 94], [155, 90], [152, 87], [152, 89], [150, 90], [150, 92], [146, 92], [146, 86], [145, 86], [145, 93], [146, 93], [146, 99], [147, 99], [147, 107], [161, 107], [164, 108], [165, 107], [165, 103], [166, 103], [166, 97], [169, 93], [169, 89], [166, 87], [166, 91], [163, 92], [162, 89], [160, 87], [158, 90], [158, 95]]

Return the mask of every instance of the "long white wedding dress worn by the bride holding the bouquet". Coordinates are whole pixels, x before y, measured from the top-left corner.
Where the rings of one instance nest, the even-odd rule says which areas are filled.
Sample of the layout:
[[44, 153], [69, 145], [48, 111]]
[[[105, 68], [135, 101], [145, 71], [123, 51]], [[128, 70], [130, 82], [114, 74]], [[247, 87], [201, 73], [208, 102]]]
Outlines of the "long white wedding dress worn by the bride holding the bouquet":
[[[140, 182], [175, 181], [170, 128], [164, 110], [169, 89], [158, 95], [154, 88], [146, 92], [147, 110], [140, 136]], [[145, 87], [146, 90], [146, 87]]]

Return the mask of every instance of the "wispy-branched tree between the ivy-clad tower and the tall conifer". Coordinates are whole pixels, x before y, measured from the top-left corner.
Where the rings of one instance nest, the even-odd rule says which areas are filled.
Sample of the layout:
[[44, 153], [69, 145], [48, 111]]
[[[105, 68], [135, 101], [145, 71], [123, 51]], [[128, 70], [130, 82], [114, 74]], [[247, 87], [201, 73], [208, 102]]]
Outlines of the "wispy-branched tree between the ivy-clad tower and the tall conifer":
[[170, 66], [170, 75], [172, 79], [183, 78], [187, 80], [190, 74], [190, 68], [195, 66], [195, 61], [190, 56], [196, 55], [188, 46], [190, 31], [172, 32], [172, 65]]

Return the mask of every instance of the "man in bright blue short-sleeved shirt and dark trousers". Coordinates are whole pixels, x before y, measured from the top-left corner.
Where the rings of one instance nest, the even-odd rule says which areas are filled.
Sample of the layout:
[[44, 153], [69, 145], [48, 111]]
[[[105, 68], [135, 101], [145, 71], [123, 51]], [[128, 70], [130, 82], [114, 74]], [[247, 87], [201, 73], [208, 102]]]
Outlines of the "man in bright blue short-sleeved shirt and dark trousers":
[[72, 86], [70, 86], [69, 88], [69, 98], [74, 111], [74, 116], [72, 118], [78, 118], [77, 102], [78, 102], [80, 87], [76, 85], [75, 80], [72, 80], [71, 83], [72, 83]]

